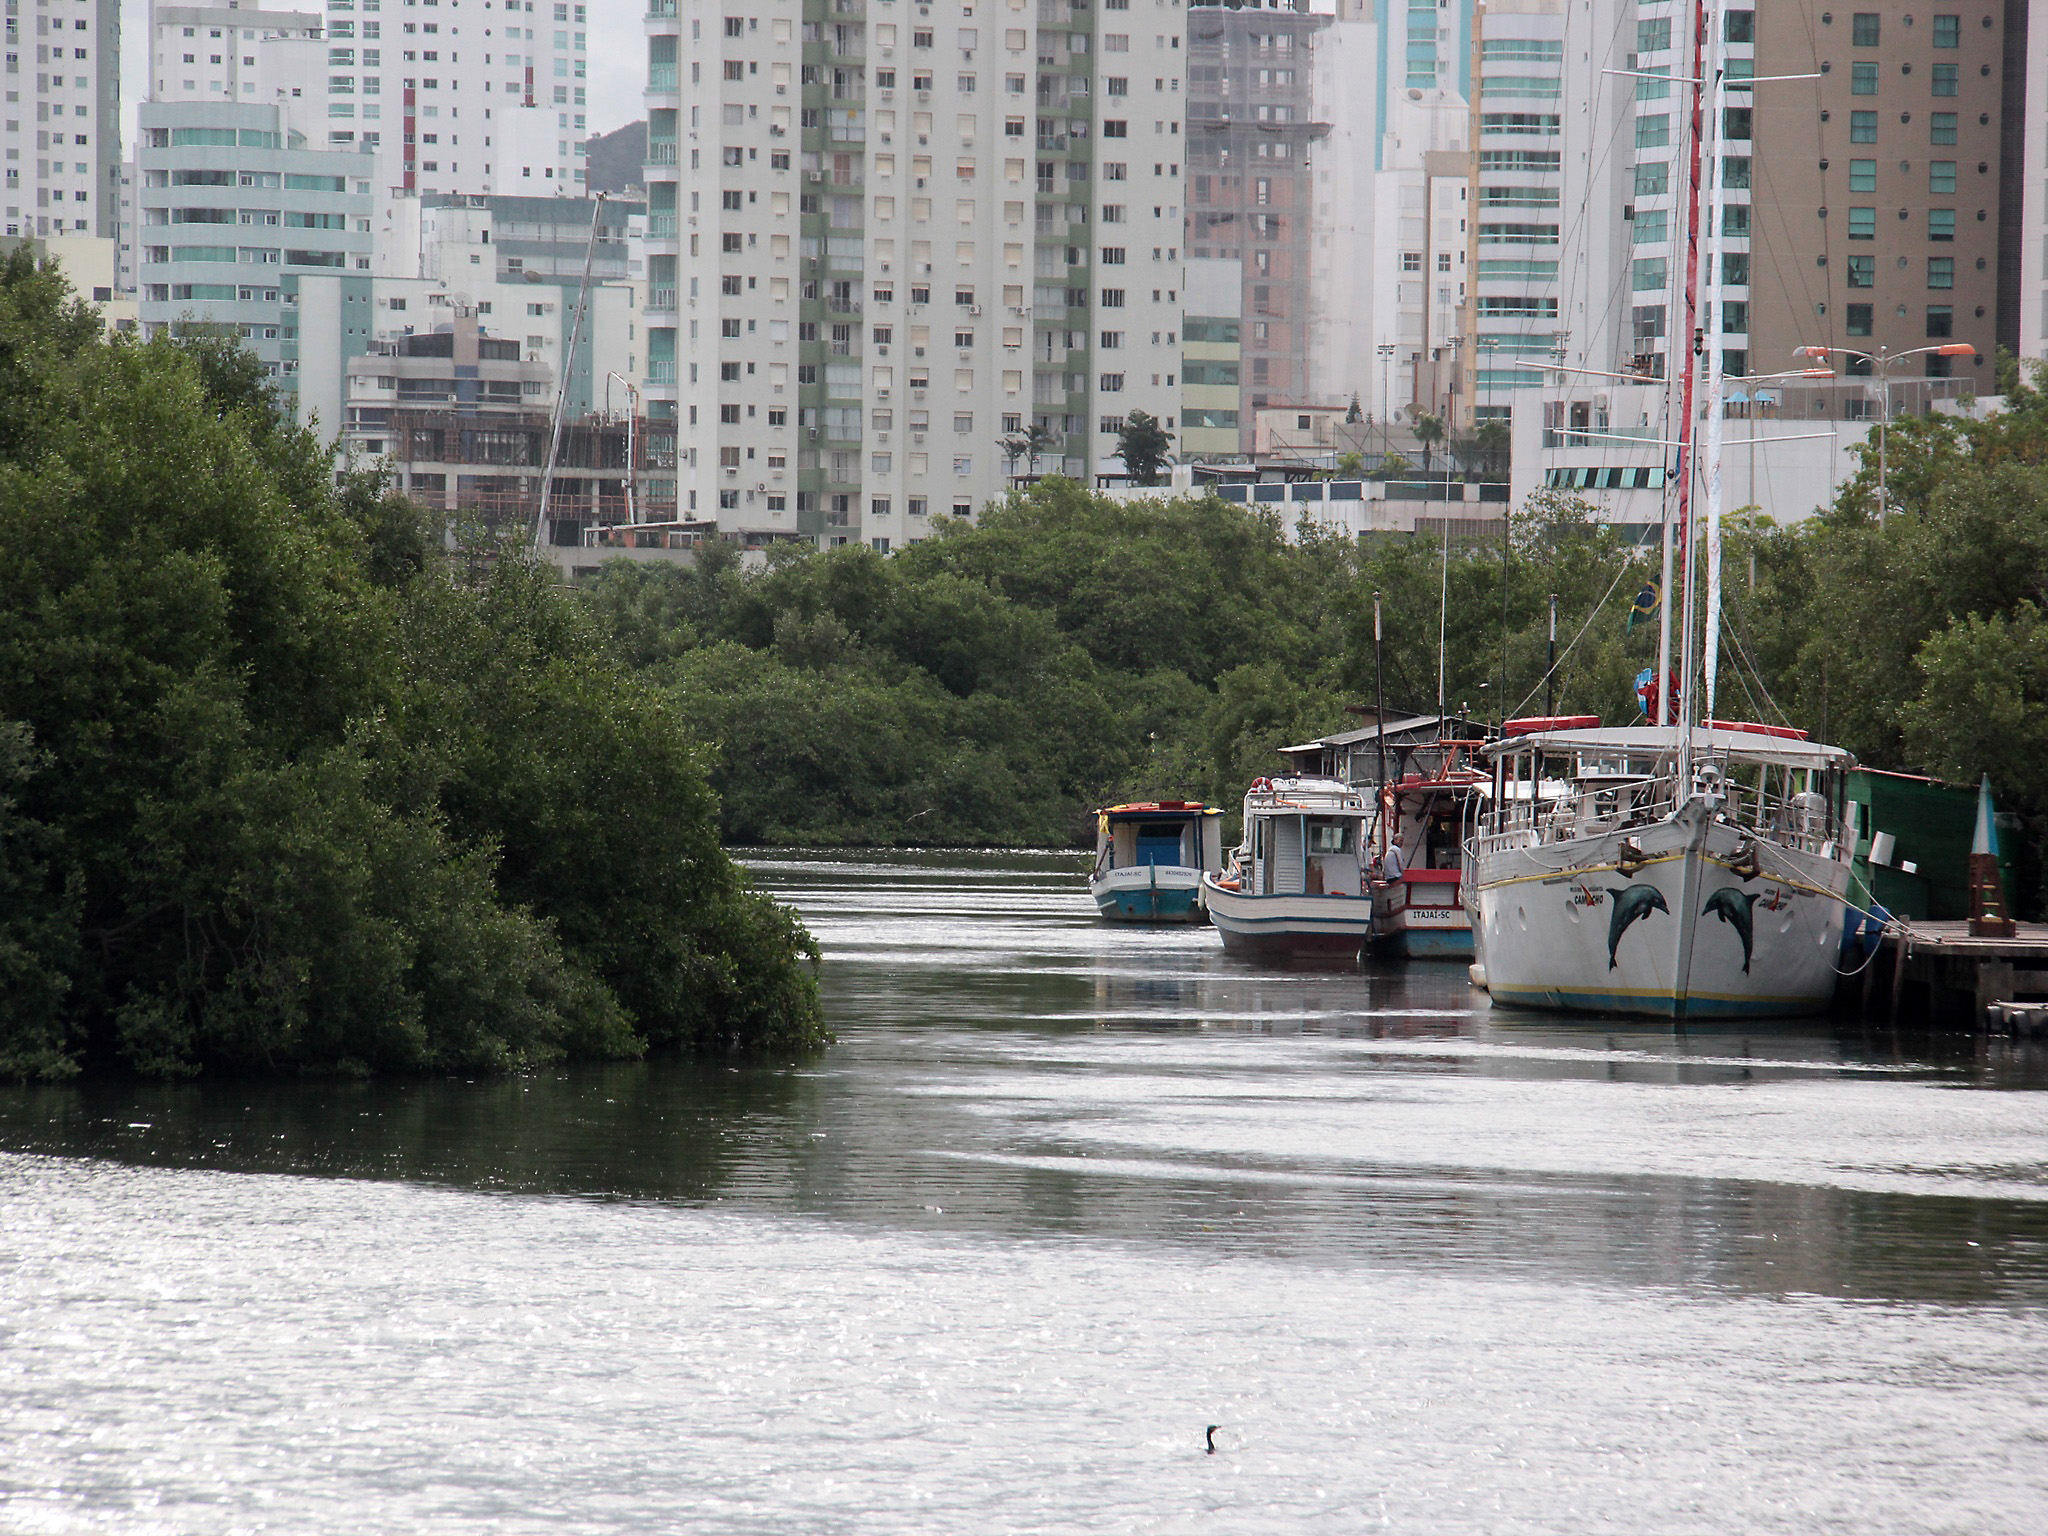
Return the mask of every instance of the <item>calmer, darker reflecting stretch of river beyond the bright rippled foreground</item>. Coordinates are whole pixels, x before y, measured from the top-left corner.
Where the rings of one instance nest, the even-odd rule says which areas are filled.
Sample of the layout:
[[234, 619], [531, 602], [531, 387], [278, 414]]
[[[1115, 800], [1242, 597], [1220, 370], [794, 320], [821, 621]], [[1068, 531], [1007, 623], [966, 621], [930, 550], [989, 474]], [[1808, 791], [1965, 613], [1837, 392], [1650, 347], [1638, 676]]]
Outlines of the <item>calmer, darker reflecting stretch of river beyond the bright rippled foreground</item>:
[[1094, 918], [1079, 860], [764, 858], [827, 952], [803, 1067], [0, 1092], [0, 1145], [737, 1204], [1309, 1266], [2048, 1300], [2048, 1059], [1858, 1022], [1491, 1010]]

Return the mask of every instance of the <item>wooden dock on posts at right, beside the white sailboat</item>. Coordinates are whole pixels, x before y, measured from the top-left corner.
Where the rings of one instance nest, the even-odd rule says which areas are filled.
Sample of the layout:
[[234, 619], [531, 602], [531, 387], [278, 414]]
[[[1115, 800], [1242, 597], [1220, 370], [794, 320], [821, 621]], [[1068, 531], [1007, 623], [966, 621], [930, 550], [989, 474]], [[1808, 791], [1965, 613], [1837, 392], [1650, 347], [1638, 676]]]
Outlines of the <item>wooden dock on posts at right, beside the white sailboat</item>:
[[2048, 924], [1976, 938], [1966, 922], [1892, 920], [1845, 999], [1864, 1018], [1956, 1030], [2048, 1030]]

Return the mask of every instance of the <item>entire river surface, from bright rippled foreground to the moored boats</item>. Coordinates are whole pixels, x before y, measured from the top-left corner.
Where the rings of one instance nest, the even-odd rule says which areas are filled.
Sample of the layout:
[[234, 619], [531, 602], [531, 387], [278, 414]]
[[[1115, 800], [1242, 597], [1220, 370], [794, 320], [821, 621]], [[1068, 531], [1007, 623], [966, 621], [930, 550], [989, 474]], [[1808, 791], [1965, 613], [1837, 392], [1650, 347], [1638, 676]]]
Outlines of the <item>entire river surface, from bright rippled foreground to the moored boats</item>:
[[795, 1069], [0, 1092], [0, 1530], [2048, 1526], [2042, 1049], [1262, 971], [1075, 868], [760, 860]]

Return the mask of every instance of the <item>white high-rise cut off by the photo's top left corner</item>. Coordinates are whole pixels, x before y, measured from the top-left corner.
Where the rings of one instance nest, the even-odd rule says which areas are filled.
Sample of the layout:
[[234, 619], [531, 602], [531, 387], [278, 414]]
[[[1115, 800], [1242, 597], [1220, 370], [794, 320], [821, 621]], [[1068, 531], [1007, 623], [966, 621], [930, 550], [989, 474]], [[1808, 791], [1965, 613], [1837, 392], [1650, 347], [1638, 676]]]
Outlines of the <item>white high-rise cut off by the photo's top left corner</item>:
[[8, 0], [0, 229], [113, 238], [121, 193], [121, 2]]

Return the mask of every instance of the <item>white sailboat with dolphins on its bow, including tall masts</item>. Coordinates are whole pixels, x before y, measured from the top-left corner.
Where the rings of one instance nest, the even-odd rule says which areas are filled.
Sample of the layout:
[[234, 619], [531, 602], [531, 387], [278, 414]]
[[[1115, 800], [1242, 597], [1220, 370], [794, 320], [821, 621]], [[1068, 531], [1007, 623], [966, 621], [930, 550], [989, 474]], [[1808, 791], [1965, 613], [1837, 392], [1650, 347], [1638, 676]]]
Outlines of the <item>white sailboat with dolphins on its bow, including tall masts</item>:
[[[1829, 1006], [1853, 838], [1841, 770], [1853, 760], [1802, 731], [1714, 719], [1720, 653], [1720, 176], [1702, 219], [1702, 152], [1718, 166], [1726, 100], [1720, 6], [1692, 76], [1692, 199], [1704, 250], [1686, 270], [1675, 516], [1665, 580], [1681, 565], [1677, 721], [1671, 614], [1659, 633], [1655, 725], [1538, 729], [1489, 748], [1491, 811], [1468, 850], [1477, 975], [1497, 1001], [1649, 1018], [1808, 1014]], [[1712, 111], [1706, 88], [1712, 84]], [[1702, 268], [1708, 319], [1700, 315]], [[1694, 461], [1694, 389], [1706, 424]], [[1692, 541], [1692, 483], [1704, 489], [1704, 551]], [[1704, 600], [1698, 557], [1704, 553]], [[1675, 561], [1673, 561], [1675, 555]], [[1696, 645], [1698, 639], [1698, 645]], [[1700, 700], [1704, 696], [1704, 709]], [[1702, 721], [1702, 723], [1694, 723]]]

